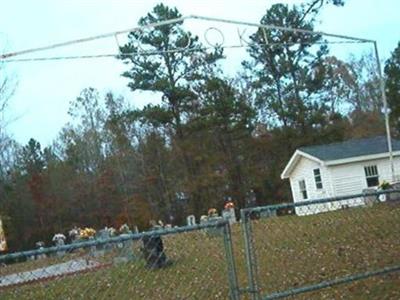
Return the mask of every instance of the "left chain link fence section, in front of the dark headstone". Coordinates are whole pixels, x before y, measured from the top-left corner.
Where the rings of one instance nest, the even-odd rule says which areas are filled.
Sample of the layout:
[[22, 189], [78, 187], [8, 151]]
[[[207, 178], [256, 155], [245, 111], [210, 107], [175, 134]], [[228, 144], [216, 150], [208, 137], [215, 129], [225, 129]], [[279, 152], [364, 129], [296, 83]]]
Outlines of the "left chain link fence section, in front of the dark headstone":
[[238, 299], [220, 221], [0, 257], [1, 299]]

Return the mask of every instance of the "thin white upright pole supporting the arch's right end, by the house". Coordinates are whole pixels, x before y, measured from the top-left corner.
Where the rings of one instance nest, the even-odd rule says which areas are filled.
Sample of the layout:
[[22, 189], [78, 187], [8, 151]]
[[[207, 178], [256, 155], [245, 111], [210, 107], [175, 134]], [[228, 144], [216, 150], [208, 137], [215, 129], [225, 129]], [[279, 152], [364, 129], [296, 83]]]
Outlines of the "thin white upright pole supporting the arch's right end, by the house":
[[389, 159], [390, 159], [390, 169], [391, 169], [391, 173], [392, 173], [392, 181], [395, 182], [396, 176], [394, 173], [392, 137], [390, 135], [389, 110], [388, 110], [386, 92], [385, 92], [385, 80], [383, 79], [383, 75], [382, 75], [381, 62], [379, 60], [379, 54], [378, 54], [378, 45], [377, 45], [376, 41], [374, 41], [373, 43], [374, 43], [374, 49], [375, 49], [376, 68], [377, 68], [378, 76], [379, 76], [379, 86], [380, 86], [382, 102], [383, 102], [383, 113], [385, 115], [385, 127], [386, 127], [386, 137], [387, 137], [387, 145], [388, 145], [388, 151], [389, 151]]

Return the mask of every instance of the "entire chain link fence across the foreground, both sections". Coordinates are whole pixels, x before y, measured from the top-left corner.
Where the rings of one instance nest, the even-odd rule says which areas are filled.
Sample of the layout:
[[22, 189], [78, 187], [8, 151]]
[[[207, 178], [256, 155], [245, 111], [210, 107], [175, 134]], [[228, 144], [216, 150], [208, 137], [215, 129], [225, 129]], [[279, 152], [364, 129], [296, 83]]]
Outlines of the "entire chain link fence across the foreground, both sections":
[[0, 256], [0, 298], [399, 299], [399, 233], [399, 191], [248, 208]]

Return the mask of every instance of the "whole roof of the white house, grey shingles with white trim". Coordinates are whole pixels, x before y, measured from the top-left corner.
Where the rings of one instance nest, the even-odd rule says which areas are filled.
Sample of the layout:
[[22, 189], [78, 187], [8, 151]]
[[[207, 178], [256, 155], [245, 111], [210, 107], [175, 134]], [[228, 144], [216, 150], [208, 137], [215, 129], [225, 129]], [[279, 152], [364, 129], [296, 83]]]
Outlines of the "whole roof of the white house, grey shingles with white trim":
[[[400, 140], [392, 139], [394, 155], [400, 154]], [[340, 143], [300, 147], [292, 155], [281, 178], [289, 178], [301, 157], [314, 160], [320, 164], [335, 165], [388, 156], [386, 136], [352, 139]]]

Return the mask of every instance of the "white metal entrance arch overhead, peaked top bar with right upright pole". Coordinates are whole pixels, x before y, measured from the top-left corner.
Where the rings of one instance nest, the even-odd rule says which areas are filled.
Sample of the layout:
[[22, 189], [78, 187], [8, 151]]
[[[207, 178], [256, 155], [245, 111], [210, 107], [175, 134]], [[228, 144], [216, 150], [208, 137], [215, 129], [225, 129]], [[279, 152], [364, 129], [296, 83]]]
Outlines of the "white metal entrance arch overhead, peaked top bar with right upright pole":
[[347, 35], [342, 35], [342, 34], [327, 33], [327, 32], [323, 32], [323, 31], [311, 31], [311, 30], [292, 28], [292, 27], [282, 27], [282, 26], [275, 26], [275, 25], [258, 24], [258, 23], [251, 23], [251, 22], [221, 19], [221, 18], [204, 17], [204, 16], [198, 16], [198, 15], [188, 15], [188, 16], [183, 16], [180, 18], [162, 21], [162, 22], [151, 23], [151, 24], [147, 24], [144, 26], [137, 26], [137, 27], [133, 27], [133, 28], [125, 29], [125, 30], [114, 31], [114, 32], [110, 32], [110, 33], [81, 38], [81, 39], [77, 39], [77, 40], [61, 42], [61, 43], [57, 43], [57, 44], [53, 44], [53, 45], [49, 45], [49, 46], [31, 48], [31, 49], [26, 49], [26, 50], [22, 50], [22, 51], [6, 53], [6, 54], [0, 55], [0, 62], [2, 60], [5, 61], [6, 59], [8, 59], [10, 57], [14, 57], [14, 56], [65, 47], [65, 46], [69, 46], [69, 45], [73, 45], [73, 44], [85, 43], [85, 42], [89, 42], [89, 41], [93, 41], [93, 40], [97, 40], [97, 39], [108, 38], [108, 37], [113, 37], [113, 36], [116, 37], [123, 33], [138, 31], [138, 30], [141, 30], [144, 28], [155, 28], [155, 27], [159, 27], [159, 26], [163, 26], [163, 25], [174, 24], [174, 23], [183, 22], [184, 20], [189, 20], [189, 19], [202, 20], [202, 21], [213, 21], [213, 22], [235, 24], [235, 25], [245, 25], [245, 26], [264, 28], [264, 29], [269, 29], [269, 30], [275, 29], [275, 30], [282, 30], [282, 31], [288, 31], [288, 32], [307, 33], [307, 34], [311, 34], [311, 35], [322, 35], [322, 36], [341, 38], [341, 39], [347, 39], [347, 40], [351, 40], [351, 41], [358, 41], [358, 42], [373, 44], [374, 55], [375, 55], [375, 59], [376, 59], [376, 69], [377, 69], [379, 81], [380, 81], [380, 92], [381, 92], [382, 103], [383, 103], [383, 113], [385, 116], [385, 129], [386, 129], [387, 146], [388, 146], [388, 152], [389, 152], [392, 181], [393, 182], [396, 181], [394, 162], [393, 162], [392, 139], [391, 139], [390, 123], [389, 123], [389, 110], [388, 110], [387, 98], [386, 98], [386, 94], [385, 94], [385, 81], [384, 81], [383, 74], [382, 74], [382, 67], [381, 67], [381, 63], [379, 60], [378, 45], [377, 45], [376, 40], [364, 39], [364, 38], [347, 36]]

